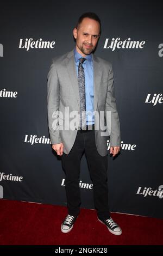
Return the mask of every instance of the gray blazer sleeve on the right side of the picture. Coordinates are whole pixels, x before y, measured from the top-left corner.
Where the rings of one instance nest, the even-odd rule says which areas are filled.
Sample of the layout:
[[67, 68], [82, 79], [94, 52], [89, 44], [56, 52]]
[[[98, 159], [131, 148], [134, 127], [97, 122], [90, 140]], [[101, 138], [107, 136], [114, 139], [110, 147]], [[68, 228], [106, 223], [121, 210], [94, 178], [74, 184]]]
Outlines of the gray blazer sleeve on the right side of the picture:
[[114, 93], [114, 72], [112, 70], [112, 64], [110, 64], [108, 75], [105, 115], [106, 112], [108, 112], [108, 118], [106, 118], [106, 126], [110, 134], [110, 147], [121, 147], [120, 120], [116, 107], [116, 98]]

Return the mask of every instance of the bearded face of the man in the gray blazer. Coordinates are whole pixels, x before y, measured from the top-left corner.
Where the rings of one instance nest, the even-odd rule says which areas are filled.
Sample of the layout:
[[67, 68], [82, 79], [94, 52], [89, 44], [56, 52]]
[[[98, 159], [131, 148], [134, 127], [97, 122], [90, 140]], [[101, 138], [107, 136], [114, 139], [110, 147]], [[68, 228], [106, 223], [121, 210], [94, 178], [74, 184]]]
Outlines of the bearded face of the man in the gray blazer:
[[86, 56], [92, 53], [99, 39], [100, 25], [98, 21], [84, 18], [79, 29], [73, 29], [73, 36], [76, 39], [77, 51]]

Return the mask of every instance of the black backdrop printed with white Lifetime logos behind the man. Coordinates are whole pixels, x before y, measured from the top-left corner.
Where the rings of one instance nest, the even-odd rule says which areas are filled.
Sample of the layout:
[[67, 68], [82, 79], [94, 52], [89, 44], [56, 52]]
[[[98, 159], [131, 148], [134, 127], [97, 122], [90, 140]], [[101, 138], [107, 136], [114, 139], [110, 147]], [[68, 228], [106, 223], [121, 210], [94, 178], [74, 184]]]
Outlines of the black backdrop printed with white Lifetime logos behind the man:
[[[0, 198], [66, 205], [65, 174], [47, 123], [52, 58], [74, 47], [78, 17], [95, 12], [102, 34], [95, 54], [114, 70], [121, 154], [109, 154], [113, 212], [163, 217], [162, 7], [149, 1], [1, 1]], [[94, 209], [83, 156], [82, 207]]]

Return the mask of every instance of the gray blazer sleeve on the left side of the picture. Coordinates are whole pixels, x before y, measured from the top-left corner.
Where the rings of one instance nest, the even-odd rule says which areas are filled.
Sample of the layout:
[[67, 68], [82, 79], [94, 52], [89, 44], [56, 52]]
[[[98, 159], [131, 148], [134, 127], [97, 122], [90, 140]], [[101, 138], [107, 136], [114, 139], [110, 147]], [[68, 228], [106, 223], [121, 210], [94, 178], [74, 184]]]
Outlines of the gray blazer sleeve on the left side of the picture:
[[61, 143], [59, 130], [59, 80], [54, 60], [47, 75], [48, 128], [52, 144]]

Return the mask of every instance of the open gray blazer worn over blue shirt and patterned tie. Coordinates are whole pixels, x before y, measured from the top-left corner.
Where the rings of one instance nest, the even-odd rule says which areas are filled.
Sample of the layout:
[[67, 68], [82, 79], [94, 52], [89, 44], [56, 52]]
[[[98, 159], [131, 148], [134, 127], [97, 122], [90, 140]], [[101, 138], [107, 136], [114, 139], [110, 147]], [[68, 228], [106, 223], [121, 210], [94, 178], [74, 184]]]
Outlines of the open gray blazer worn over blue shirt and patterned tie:
[[[92, 57], [96, 147], [98, 153], [101, 156], [105, 156], [108, 154], [108, 139], [110, 139], [110, 147], [121, 146], [120, 121], [113, 86], [114, 74], [110, 62], [93, 54]], [[69, 154], [80, 124], [79, 115], [74, 125], [74, 130], [64, 129], [65, 107], [69, 107], [70, 113], [72, 111], [79, 113], [80, 111], [78, 77], [73, 50], [53, 58], [47, 79], [47, 112], [51, 143], [58, 144], [62, 142], [64, 144], [64, 153]], [[104, 113], [102, 115], [104, 119], [100, 113]], [[106, 113], [108, 114], [106, 115]], [[104, 120], [102, 125], [99, 124], [99, 120]]]

